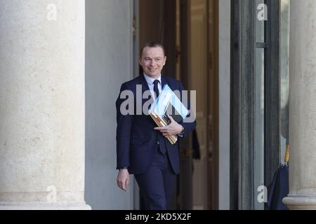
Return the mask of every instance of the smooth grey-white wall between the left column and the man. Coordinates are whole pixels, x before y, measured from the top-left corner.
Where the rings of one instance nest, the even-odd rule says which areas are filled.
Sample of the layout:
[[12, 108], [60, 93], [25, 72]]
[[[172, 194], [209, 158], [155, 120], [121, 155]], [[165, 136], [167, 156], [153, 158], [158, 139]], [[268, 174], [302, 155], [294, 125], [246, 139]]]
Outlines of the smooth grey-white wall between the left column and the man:
[[92, 209], [133, 209], [133, 183], [116, 177], [115, 100], [133, 78], [130, 0], [86, 1], [86, 202]]

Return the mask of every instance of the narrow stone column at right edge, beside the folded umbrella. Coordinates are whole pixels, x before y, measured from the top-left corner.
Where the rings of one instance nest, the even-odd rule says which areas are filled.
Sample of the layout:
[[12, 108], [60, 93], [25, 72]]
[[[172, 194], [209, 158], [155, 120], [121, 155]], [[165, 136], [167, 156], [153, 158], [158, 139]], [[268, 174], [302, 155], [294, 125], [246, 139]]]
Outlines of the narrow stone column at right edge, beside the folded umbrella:
[[289, 209], [316, 209], [316, 1], [291, 1]]

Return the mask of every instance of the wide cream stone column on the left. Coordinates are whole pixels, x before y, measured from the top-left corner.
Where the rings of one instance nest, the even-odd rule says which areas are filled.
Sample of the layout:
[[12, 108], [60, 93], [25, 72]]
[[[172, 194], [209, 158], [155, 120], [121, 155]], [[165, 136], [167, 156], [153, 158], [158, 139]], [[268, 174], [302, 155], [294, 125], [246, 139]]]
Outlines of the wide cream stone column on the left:
[[0, 0], [0, 209], [91, 209], [84, 55], [84, 0]]

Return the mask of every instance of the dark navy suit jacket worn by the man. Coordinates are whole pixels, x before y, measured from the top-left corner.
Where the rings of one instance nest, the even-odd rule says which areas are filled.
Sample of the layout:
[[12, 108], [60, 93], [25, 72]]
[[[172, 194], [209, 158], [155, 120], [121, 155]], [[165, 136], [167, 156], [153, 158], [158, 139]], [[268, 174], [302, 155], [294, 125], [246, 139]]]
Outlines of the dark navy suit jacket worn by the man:
[[[176, 79], [162, 76], [162, 88], [168, 84], [171, 90], [183, 90], [183, 85]], [[140, 75], [129, 82], [121, 85], [119, 97], [117, 98], [117, 169], [128, 167], [130, 174], [143, 174], [152, 164], [158, 147], [165, 147], [168, 151], [171, 167], [175, 174], [180, 172], [180, 161], [178, 152], [178, 141], [170, 144], [160, 132], [154, 130], [157, 125], [150, 116], [143, 113], [136, 115], [136, 86], [141, 86], [142, 93], [149, 90], [145, 77]], [[120, 111], [121, 104], [128, 97], [121, 99], [121, 92], [131, 90], [133, 92], [134, 107], [133, 114], [123, 115]], [[138, 96], [141, 97], [141, 96]], [[141, 98], [140, 98], [141, 99]], [[142, 106], [148, 99], [141, 101]], [[130, 101], [131, 102], [131, 101]], [[125, 105], [125, 104], [124, 104]], [[188, 106], [190, 107], [190, 106]], [[127, 108], [126, 108], [127, 109]], [[195, 129], [195, 121], [192, 123], [180, 123], [183, 125], [184, 137]]]

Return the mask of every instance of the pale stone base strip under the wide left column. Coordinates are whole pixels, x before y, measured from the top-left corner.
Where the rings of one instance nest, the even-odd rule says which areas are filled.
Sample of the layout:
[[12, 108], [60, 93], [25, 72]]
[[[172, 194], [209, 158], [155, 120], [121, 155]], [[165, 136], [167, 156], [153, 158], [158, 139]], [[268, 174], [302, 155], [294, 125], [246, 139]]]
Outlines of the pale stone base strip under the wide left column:
[[1, 203], [0, 210], [91, 210], [85, 203]]

